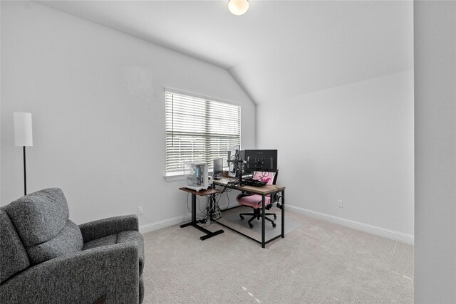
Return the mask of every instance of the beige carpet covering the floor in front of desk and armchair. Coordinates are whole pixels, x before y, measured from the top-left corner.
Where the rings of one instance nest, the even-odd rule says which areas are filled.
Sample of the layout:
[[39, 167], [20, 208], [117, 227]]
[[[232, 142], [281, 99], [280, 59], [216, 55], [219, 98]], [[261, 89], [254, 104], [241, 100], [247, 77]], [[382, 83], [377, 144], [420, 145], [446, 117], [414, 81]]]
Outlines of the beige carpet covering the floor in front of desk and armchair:
[[413, 303], [413, 246], [286, 218], [302, 226], [266, 248], [228, 229], [206, 241], [193, 227], [145, 234], [144, 303]]

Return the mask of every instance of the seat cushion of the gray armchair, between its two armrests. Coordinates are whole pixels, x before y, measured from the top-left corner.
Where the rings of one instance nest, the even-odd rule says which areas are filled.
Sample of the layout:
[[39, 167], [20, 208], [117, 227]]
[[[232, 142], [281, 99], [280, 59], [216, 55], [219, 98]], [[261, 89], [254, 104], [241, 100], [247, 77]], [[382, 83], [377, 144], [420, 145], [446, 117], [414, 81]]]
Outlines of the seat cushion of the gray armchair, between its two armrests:
[[90, 248], [97, 248], [101, 246], [115, 245], [116, 243], [127, 243], [132, 242], [138, 246], [138, 256], [140, 260], [140, 275], [144, 268], [144, 243], [142, 241], [142, 235], [138, 231], [122, 231], [118, 234], [111, 234], [100, 239], [88, 241], [84, 243], [83, 251]]

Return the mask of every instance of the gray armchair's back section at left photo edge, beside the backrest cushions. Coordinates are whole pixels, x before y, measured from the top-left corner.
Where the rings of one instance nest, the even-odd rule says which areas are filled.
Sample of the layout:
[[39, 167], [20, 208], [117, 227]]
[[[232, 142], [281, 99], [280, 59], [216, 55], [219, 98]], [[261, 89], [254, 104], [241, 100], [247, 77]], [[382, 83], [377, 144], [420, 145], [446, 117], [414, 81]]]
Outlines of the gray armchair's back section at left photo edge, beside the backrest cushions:
[[0, 209], [0, 283], [30, 266], [26, 248], [5, 211]]

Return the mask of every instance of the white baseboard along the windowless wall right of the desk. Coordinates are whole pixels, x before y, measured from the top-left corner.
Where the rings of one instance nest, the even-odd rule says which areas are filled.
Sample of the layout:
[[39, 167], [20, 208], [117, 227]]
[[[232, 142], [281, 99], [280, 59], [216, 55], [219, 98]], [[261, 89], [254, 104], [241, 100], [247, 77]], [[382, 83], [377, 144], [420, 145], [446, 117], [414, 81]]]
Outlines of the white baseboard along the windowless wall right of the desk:
[[415, 241], [415, 237], [411, 234], [404, 234], [403, 232], [385, 229], [382, 227], [361, 223], [359, 221], [352, 221], [351, 219], [343, 219], [338, 216], [333, 216], [330, 214], [323, 214], [318, 211], [312, 211], [309, 209], [304, 209], [304, 208], [292, 206], [289, 204], [286, 204], [285, 206], [286, 206], [286, 209], [296, 211], [296, 212], [298, 212], [300, 214], [304, 214], [306, 216], [311, 216], [316, 219], [323, 219], [324, 221], [331, 221], [332, 223], [339, 224], [341, 226], [346, 226], [346, 227], [349, 227], [352, 229], [364, 231], [369, 234], [383, 236], [386, 239], [392, 239], [392, 240], [400, 241], [403, 243], [409, 243], [411, 245], [413, 245], [413, 243]]

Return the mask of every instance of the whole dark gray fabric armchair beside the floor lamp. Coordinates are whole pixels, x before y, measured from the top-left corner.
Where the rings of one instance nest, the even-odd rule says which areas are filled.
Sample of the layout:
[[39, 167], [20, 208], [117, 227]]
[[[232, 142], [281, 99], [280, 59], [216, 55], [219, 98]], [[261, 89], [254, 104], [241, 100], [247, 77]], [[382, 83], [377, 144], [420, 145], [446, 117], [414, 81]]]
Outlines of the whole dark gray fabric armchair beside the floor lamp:
[[77, 226], [61, 189], [0, 208], [0, 303], [142, 303], [137, 216]]

